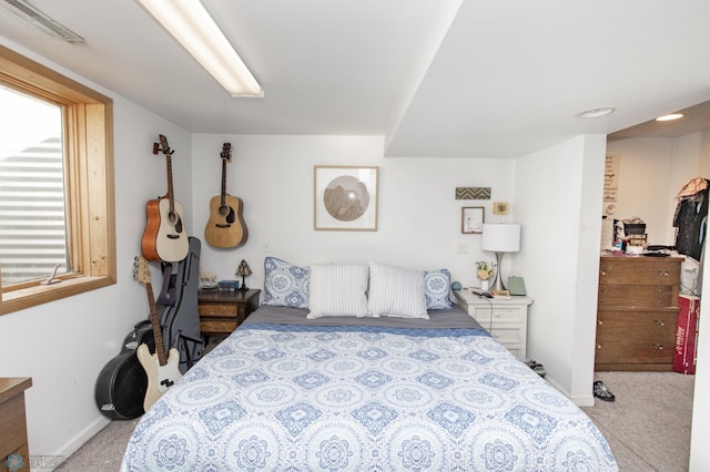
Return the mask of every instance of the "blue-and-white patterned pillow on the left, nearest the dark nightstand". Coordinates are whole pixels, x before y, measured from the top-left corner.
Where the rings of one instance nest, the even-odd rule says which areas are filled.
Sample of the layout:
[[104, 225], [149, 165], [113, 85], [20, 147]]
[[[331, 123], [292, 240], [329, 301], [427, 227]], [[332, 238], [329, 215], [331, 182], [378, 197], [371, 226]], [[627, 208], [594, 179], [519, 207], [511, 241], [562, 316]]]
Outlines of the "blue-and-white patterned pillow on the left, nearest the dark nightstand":
[[264, 300], [272, 307], [308, 308], [310, 270], [275, 257], [264, 259]]

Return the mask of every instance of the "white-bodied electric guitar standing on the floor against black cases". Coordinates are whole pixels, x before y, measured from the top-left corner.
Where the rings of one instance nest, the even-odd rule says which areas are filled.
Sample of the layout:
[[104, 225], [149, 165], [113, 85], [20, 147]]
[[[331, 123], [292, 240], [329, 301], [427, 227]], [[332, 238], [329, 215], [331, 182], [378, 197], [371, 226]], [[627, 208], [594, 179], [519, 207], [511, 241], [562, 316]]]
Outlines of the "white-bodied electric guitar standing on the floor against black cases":
[[145, 370], [148, 377], [148, 387], [145, 389], [145, 399], [143, 400], [143, 409], [148, 411], [162, 396], [171, 388], [181, 377], [180, 372], [180, 352], [172, 348], [165, 358], [165, 347], [163, 345], [163, 332], [155, 308], [153, 298], [153, 288], [151, 286], [151, 269], [144, 257], [136, 257], [134, 263], [133, 278], [145, 286], [148, 294], [148, 304], [151, 309], [151, 325], [153, 326], [153, 338], [155, 339], [155, 352], [151, 353], [148, 345], [143, 343], [138, 347], [135, 355], [139, 362]]

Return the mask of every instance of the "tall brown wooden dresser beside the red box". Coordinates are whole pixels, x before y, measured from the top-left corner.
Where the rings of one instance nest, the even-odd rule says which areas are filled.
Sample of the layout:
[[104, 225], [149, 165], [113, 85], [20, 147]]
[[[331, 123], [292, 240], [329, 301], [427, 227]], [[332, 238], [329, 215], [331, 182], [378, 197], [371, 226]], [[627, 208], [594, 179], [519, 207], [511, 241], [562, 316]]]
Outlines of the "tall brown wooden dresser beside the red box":
[[682, 260], [601, 257], [595, 370], [673, 370]]

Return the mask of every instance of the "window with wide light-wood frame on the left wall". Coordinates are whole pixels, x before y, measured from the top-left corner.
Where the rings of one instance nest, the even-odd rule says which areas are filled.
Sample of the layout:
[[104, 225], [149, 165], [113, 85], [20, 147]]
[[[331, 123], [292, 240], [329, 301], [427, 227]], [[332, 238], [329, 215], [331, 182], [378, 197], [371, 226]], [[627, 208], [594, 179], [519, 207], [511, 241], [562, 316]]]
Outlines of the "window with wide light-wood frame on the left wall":
[[0, 45], [2, 100], [32, 119], [0, 131], [0, 315], [114, 284], [111, 100]]

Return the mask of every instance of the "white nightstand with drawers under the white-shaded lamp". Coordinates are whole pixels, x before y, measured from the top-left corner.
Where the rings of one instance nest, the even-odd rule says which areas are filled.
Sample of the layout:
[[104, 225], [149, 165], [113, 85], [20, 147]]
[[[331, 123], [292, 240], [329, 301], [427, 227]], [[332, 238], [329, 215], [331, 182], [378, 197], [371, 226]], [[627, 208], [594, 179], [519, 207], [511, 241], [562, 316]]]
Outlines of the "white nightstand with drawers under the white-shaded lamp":
[[528, 297], [484, 298], [470, 290], [454, 291], [456, 304], [520, 360], [526, 360]]

